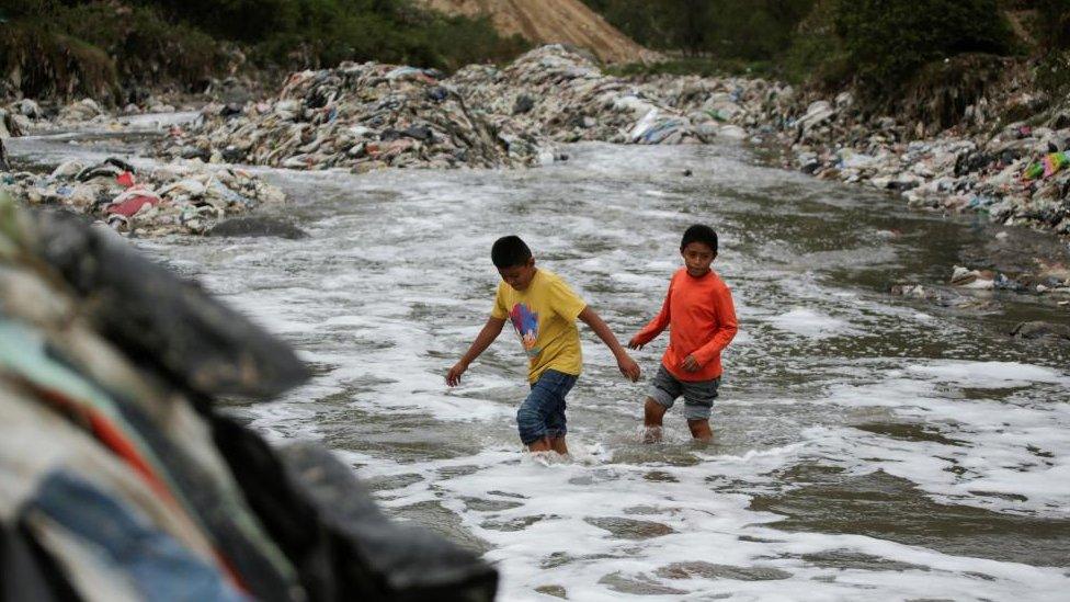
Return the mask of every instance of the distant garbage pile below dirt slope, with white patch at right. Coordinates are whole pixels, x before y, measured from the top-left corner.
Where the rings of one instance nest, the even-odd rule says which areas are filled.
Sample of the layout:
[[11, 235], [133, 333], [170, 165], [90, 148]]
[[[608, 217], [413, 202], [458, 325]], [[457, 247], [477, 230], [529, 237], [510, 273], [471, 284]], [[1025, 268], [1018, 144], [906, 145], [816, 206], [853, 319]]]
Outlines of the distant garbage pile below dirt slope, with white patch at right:
[[634, 83], [602, 73], [562, 45], [535, 48], [508, 67], [471, 65], [451, 82], [509, 137], [559, 143], [706, 143], [717, 127], [699, 126]]

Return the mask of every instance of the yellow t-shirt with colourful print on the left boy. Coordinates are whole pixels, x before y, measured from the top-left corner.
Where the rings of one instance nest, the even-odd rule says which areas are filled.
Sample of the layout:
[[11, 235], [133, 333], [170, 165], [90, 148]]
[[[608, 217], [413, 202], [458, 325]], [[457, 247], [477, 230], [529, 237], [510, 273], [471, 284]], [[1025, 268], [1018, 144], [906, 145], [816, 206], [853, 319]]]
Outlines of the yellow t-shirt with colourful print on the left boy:
[[583, 299], [564, 280], [538, 269], [526, 291], [499, 283], [490, 315], [512, 321], [531, 362], [527, 379], [534, 383], [548, 368], [580, 375], [583, 355], [576, 318], [584, 307]]

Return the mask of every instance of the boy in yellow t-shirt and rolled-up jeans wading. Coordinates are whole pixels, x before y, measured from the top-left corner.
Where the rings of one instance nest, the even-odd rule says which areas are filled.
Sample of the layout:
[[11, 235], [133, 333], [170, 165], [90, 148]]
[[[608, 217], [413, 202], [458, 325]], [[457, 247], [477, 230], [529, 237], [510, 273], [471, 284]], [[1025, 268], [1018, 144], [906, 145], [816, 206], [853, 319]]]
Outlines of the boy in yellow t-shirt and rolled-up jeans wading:
[[471, 347], [449, 368], [446, 384], [453, 387], [460, 383], [460, 375], [498, 338], [509, 319], [530, 360], [527, 380], [531, 393], [516, 412], [520, 439], [532, 452], [553, 450], [566, 455], [565, 396], [583, 366], [576, 319], [590, 326], [610, 348], [625, 376], [638, 379], [639, 365], [628, 356], [602, 318], [565, 281], [535, 268], [531, 249], [519, 237], [498, 239], [490, 257], [502, 277], [494, 308]]

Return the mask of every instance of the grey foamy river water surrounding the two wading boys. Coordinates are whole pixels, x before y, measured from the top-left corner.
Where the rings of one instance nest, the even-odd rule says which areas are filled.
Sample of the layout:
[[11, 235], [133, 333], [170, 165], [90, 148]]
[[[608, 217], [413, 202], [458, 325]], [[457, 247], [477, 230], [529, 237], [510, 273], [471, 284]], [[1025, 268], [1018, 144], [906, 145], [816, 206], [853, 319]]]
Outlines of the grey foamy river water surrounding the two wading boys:
[[[102, 150], [11, 147], [37, 162]], [[516, 171], [263, 170], [310, 238], [137, 245], [312, 366], [307, 386], [231, 411], [275, 441], [322, 441], [388, 513], [496, 564], [501, 600], [1067, 600], [1068, 354], [1003, 334], [1066, 309], [887, 293], [946, 282], [992, 232], [733, 145], [569, 152]], [[567, 462], [520, 445], [509, 329], [445, 386], [491, 307], [499, 236], [527, 240], [627, 340], [696, 222], [720, 234], [714, 268], [740, 318], [712, 444], [690, 441], [679, 408], [663, 443], [640, 442], [667, 336], [634, 354], [633, 384], [581, 326]]]

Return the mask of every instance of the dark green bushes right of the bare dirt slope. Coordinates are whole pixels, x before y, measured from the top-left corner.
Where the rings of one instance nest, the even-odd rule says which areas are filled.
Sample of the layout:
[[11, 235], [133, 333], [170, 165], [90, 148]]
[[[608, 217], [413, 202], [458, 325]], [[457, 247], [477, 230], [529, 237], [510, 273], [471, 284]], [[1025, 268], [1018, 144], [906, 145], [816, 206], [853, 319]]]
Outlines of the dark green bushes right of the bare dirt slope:
[[[1026, 35], [1052, 56], [1070, 46], [1070, 0], [584, 0], [610, 23], [673, 56], [621, 72], [770, 73], [793, 82], [855, 82], [896, 94], [924, 67], [958, 56], [1034, 52], [1008, 11], [1034, 16]], [[682, 58], [681, 58], [682, 57]], [[1062, 63], [1060, 63], [1062, 61]]]

